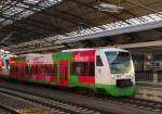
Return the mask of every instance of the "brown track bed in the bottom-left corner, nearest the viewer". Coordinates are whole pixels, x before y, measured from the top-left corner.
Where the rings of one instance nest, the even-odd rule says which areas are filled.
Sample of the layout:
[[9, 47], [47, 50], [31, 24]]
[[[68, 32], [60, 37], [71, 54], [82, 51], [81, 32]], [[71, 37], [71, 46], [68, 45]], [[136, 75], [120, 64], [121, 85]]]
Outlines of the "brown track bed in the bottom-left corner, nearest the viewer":
[[41, 114], [43, 112], [54, 114], [53, 111], [43, 106], [0, 92], [0, 114]]

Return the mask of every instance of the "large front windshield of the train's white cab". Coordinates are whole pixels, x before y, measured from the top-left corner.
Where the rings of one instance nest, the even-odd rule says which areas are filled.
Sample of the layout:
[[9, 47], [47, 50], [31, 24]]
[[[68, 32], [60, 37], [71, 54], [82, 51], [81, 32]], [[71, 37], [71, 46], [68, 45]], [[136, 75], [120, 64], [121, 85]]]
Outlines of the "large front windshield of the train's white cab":
[[111, 74], [127, 73], [131, 69], [131, 56], [129, 52], [105, 52], [109, 62]]

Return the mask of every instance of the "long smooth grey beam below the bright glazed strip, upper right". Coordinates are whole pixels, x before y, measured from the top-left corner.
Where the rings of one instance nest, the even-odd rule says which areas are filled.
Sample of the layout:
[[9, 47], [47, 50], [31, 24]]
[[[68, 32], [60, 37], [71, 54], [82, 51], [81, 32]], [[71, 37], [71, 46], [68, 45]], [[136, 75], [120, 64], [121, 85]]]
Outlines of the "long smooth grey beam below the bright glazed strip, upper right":
[[100, 33], [94, 33], [94, 34], [90, 34], [90, 35], [83, 35], [83, 36], [77, 36], [77, 37], [66, 37], [65, 39], [57, 40], [56, 43], [73, 42], [73, 41], [80, 41], [80, 40], [86, 40], [86, 39], [95, 39], [95, 38], [100, 38], [100, 37], [108, 37], [108, 36], [113, 36], [113, 35], [121, 35], [121, 34], [160, 28], [160, 27], [162, 27], [162, 21], [149, 22], [149, 23], [137, 24], [137, 25], [121, 27], [121, 28], [111, 29], [111, 30], [104, 30]]

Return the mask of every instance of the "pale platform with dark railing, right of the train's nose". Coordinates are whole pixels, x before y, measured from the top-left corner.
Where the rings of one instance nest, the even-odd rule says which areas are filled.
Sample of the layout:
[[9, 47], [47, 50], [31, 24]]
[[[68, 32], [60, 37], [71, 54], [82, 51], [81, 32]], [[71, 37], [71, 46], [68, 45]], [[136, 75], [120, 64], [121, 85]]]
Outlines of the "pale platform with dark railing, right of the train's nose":
[[136, 98], [162, 102], [162, 75], [160, 71], [136, 72]]

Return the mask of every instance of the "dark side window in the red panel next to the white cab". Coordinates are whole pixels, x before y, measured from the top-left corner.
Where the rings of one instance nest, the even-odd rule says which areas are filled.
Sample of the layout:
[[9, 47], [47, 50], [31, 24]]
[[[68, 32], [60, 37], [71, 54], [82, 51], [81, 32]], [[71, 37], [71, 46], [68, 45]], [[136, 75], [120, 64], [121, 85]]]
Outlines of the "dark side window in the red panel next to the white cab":
[[71, 74], [78, 76], [94, 76], [94, 62], [72, 62]]

